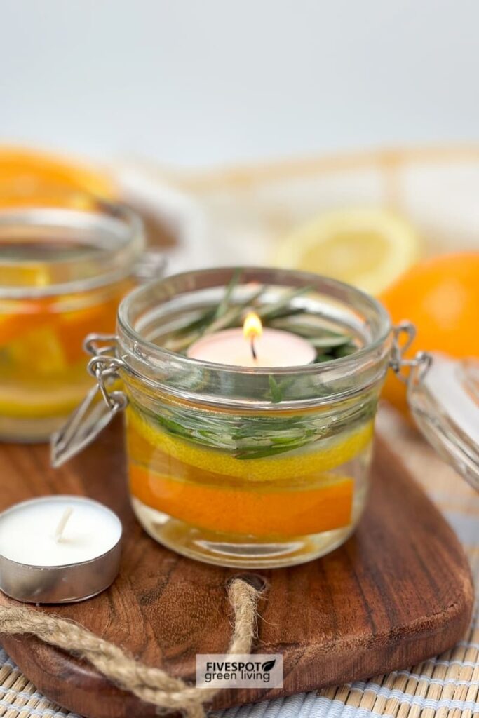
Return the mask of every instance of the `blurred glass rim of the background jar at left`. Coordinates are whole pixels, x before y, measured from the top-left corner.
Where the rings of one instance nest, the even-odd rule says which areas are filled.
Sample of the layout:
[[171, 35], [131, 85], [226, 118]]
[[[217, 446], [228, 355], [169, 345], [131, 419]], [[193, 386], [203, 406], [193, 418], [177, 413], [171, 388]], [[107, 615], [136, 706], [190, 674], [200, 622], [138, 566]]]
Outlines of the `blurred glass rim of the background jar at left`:
[[[2, 208], [0, 210], [0, 234], [4, 232], [22, 236], [28, 233], [52, 230], [62, 232], [68, 247], [68, 232], [88, 236], [81, 256], [61, 258], [0, 258], [0, 299], [25, 299], [48, 297], [57, 294], [85, 292], [100, 286], [113, 284], [129, 276], [132, 266], [144, 250], [143, 222], [134, 210], [120, 202], [80, 195], [92, 208], [71, 206], [28, 206]], [[102, 237], [101, 242], [99, 237]], [[47, 242], [45, 241], [45, 244]], [[98, 252], [101, 249], [101, 252]], [[48, 267], [53, 281], [32, 284], [22, 277], [22, 268], [28, 266], [32, 273]]]

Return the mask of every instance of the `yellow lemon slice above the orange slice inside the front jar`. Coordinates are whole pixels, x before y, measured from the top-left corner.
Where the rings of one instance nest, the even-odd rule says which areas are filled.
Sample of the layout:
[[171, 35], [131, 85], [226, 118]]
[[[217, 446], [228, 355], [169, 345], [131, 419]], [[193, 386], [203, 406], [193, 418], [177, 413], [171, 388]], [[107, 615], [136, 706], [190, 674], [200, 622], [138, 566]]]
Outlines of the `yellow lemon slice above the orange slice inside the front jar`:
[[154, 426], [149, 419], [129, 406], [126, 409], [130, 441], [136, 432], [150, 445], [158, 447], [176, 460], [225, 476], [245, 480], [284, 480], [329, 471], [353, 459], [366, 449], [373, 438], [373, 421], [368, 421], [346, 436], [322, 439], [309, 452], [280, 454], [263, 459], [242, 461], [227, 452], [201, 447]]

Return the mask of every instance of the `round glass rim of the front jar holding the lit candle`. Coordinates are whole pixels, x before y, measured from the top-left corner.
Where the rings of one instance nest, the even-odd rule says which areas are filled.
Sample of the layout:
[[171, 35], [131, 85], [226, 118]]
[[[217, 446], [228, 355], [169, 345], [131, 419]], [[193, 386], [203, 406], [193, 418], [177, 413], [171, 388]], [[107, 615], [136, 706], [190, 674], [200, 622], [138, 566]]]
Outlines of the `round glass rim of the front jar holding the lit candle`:
[[229, 274], [231, 278], [231, 276], [233, 276], [234, 272], [236, 271], [236, 268], [233, 266], [219, 266], [208, 269], [185, 271], [179, 274], [172, 274], [162, 279], [159, 279], [158, 281], [153, 281], [149, 282], [149, 284], [138, 286], [136, 287], [136, 289], [129, 292], [129, 294], [127, 294], [126, 297], [122, 299], [118, 307], [117, 329], [120, 335], [120, 340], [122, 335], [124, 335], [124, 337], [127, 337], [127, 339], [129, 340], [129, 343], [131, 343], [131, 345], [134, 346], [136, 349], [144, 349], [146, 350], [146, 353], [148, 353], [149, 355], [153, 355], [156, 358], [170, 358], [172, 360], [175, 360], [175, 363], [180, 363], [183, 368], [205, 368], [209, 370], [222, 371], [223, 373], [228, 373], [231, 376], [241, 376], [248, 374], [251, 375], [252, 371], [256, 376], [269, 376], [271, 374], [278, 374], [284, 376], [288, 374], [291, 375], [293, 373], [301, 376], [307, 376], [308, 374], [317, 374], [322, 371], [328, 370], [332, 366], [334, 366], [335, 368], [346, 369], [350, 366], [353, 366], [358, 361], [366, 360], [370, 356], [374, 355], [374, 353], [376, 353], [379, 348], [381, 348], [381, 345], [386, 342], [386, 340], [391, 334], [391, 320], [385, 307], [383, 307], [383, 304], [381, 304], [381, 302], [379, 302], [374, 297], [371, 297], [370, 294], [366, 294], [366, 292], [363, 292], [361, 289], [357, 289], [355, 286], [346, 284], [345, 282], [339, 281], [338, 279], [332, 279], [331, 277], [323, 276], [320, 274], [313, 274], [311, 272], [292, 269], [277, 269], [264, 266], [243, 266], [241, 269], [246, 275], [253, 273], [266, 274], [268, 272], [274, 272], [274, 276], [276, 276], [277, 279], [287, 279], [289, 276], [294, 276], [299, 279], [299, 281], [304, 282], [304, 286], [312, 285], [313, 290], [318, 289], [319, 285], [321, 285], [322, 290], [329, 289], [332, 296], [340, 292], [349, 293], [353, 297], [355, 297], [358, 304], [367, 304], [373, 310], [373, 312], [375, 312], [376, 317], [378, 318], [379, 325], [377, 336], [374, 337], [371, 342], [368, 342], [365, 346], [361, 347], [351, 355], [327, 360], [320, 364], [312, 363], [307, 365], [281, 366], [274, 368], [255, 367], [254, 369], [252, 369], [251, 367], [221, 364], [190, 358], [185, 355], [176, 353], [175, 351], [159, 346], [154, 342], [145, 339], [141, 335], [141, 333], [136, 331], [131, 320], [131, 309], [134, 306], [134, 303], [138, 302], [139, 300], [141, 301], [144, 295], [146, 295], [149, 291], [152, 291], [152, 288], [158, 289], [161, 286], [167, 286], [167, 283], [171, 283], [172, 281], [185, 281], [188, 283], [188, 280], [190, 280], [190, 283], [192, 283], [193, 281], [195, 281], [195, 279], [207, 278], [208, 274], [213, 273]]

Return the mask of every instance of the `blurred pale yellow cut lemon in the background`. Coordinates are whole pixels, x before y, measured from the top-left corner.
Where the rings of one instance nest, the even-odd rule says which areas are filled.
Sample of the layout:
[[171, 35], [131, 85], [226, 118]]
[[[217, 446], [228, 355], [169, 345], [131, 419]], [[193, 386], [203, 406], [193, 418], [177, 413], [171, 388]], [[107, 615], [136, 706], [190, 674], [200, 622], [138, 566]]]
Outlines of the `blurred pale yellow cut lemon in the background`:
[[419, 259], [420, 248], [414, 227], [390, 210], [335, 210], [285, 237], [276, 264], [332, 276], [369, 294], [380, 294]]

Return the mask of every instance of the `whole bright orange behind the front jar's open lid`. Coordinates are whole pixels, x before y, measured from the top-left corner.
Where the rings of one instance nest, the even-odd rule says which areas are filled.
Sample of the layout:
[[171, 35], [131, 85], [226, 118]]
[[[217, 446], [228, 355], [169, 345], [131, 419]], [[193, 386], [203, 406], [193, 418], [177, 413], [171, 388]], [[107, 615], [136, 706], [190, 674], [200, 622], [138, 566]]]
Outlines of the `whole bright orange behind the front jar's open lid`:
[[[447, 254], [416, 264], [380, 297], [394, 324], [411, 321], [417, 337], [408, 352], [440, 351], [479, 357], [479, 251]], [[407, 411], [404, 384], [389, 372], [384, 398]]]

